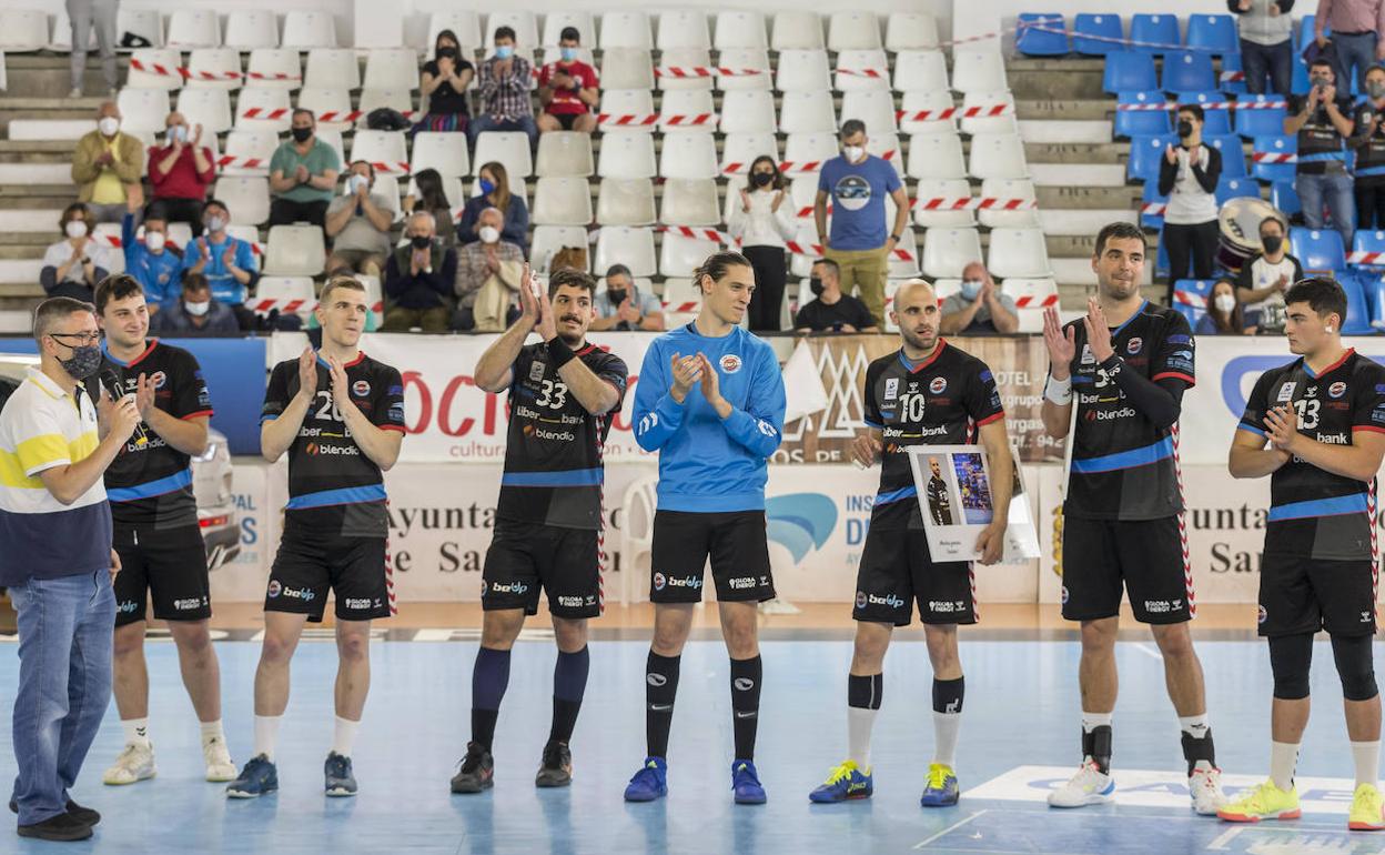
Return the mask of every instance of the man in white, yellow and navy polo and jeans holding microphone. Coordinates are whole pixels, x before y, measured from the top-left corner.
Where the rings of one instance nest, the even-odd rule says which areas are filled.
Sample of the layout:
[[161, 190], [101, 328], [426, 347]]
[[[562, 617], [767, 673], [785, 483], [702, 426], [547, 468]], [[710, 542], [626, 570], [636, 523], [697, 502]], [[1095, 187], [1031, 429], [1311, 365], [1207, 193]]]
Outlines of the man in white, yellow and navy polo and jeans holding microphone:
[[[19, 628], [10, 809], [21, 837], [84, 840], [101, 816], [68, 788], [111, 701], [111, 579], [120, 568], [101, 475], [140, 407], [134, 396], [105, 400], [98, 425], [101, 333], [90, 303], [44, 301], [33, 337], [40, 364], [0, 410], [0, 585]], [[140, 389], [152, 394], [152, 382]]]

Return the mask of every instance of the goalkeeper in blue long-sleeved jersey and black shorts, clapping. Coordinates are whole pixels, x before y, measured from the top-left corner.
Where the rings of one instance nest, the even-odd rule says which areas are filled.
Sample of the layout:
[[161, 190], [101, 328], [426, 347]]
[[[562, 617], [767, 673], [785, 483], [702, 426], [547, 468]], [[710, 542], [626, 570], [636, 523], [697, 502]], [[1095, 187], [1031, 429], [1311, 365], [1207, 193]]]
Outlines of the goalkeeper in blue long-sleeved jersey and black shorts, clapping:
[[738, 252], [716, 252], [694, 280], [702, 310], [650, 345], [634, 392], [634, 438], [640, 448], [659, 452], [659, 507], [650, 585], [654, 642], [644, 678], [648, 757], [625, 798], [668, 794], [679, 657], [711, 557], [731, 657], [731, 788], [740, 804], [763, 804], [753, 762], [760, 707], [755, 607], [774, 597], [765, 481], [784, 427], [784, 377], [770, 345], [738, 326], [755, 291], [751, 262]]

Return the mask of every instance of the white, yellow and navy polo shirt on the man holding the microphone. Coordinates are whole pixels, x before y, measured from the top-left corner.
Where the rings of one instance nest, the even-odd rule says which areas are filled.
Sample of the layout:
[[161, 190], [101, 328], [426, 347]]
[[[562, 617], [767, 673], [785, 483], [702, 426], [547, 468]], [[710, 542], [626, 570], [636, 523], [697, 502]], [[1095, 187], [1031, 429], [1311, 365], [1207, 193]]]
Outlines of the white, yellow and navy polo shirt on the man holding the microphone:
[[91, 396], [28, 376], [0, 412], [0, 585], [55, 579], [111, 565], [111, 506], [100, 478], [72, 504], [39, 473], [76, 463], [98, 443]]

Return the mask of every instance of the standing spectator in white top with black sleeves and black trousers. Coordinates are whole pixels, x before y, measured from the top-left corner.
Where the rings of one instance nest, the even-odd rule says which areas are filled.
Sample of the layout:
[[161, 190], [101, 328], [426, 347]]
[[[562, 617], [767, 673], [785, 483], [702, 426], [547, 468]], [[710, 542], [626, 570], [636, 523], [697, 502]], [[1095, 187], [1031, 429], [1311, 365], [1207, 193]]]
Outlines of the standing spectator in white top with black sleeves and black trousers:
[[1166, 146], [1159, 161], [1159, 193], [1169, 197], [1163, 213], [1163, 241], [1169, 251], [1169, 294], [1173, 283], [1209, 279], [1222, 237], [1217, 227], [1216, 183], [1222, 177], [1222, 152], [1202, 144], [1202, 108], [1179, 107], [1179, 147]]

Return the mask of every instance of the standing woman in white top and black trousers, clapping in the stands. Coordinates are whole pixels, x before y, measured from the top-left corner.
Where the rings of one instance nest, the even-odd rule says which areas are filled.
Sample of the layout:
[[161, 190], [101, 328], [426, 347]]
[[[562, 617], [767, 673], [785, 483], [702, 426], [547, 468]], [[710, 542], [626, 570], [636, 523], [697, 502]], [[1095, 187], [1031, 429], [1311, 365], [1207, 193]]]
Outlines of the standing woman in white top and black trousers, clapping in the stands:
[[784, 191], [784, 176], [774, 158], [762, 154], [751, 164], [749, 188], [741, 188], [741, 204], [731, 205], [727, 223], [731, 237], [755, 270], [751, 294], [751, 331], [778, 333], [784, 305], [784, 241], [794, 240], [794, 205]]

